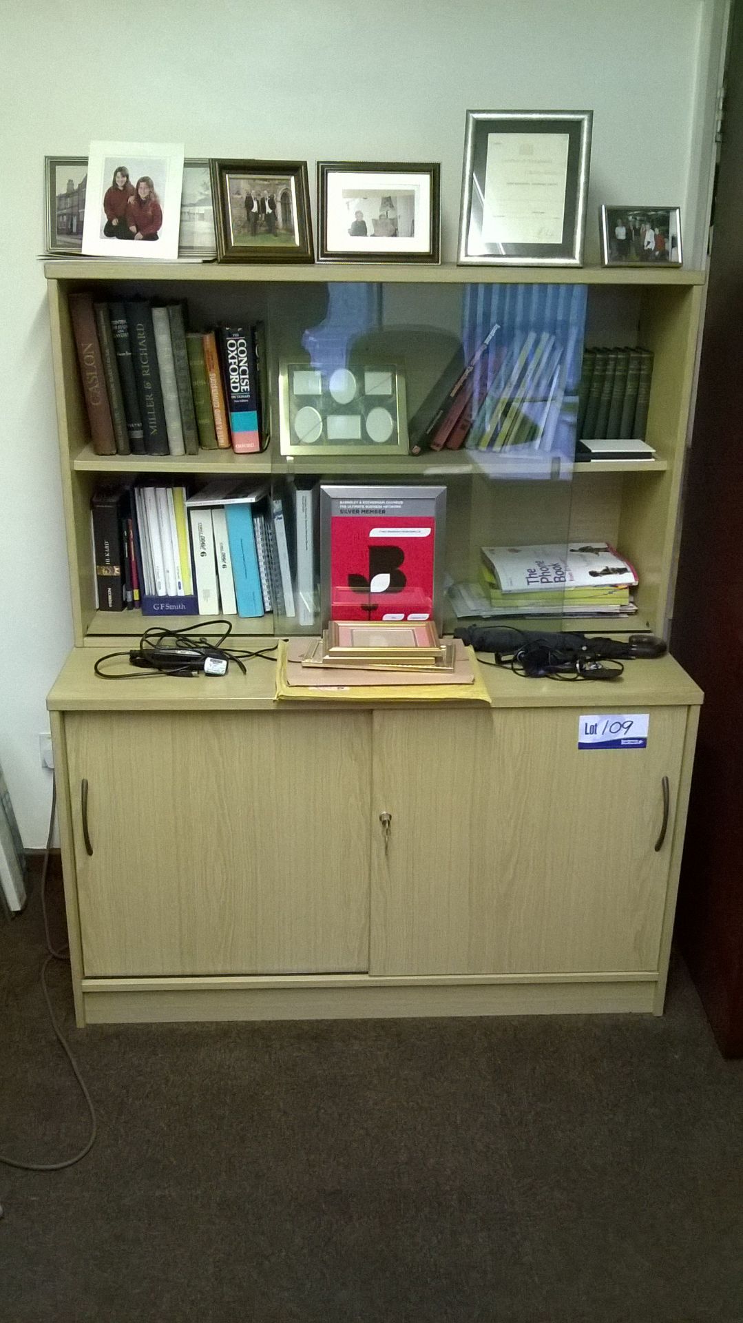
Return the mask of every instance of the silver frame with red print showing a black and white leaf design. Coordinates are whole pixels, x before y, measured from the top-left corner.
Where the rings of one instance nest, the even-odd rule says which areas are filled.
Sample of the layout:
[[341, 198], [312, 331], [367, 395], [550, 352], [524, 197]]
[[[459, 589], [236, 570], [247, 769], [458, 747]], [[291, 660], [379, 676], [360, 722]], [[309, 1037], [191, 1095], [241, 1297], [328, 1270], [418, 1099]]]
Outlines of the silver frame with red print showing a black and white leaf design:
[[442, 631], [447, 490], [320, 484], [321, 623], [434, 620]]

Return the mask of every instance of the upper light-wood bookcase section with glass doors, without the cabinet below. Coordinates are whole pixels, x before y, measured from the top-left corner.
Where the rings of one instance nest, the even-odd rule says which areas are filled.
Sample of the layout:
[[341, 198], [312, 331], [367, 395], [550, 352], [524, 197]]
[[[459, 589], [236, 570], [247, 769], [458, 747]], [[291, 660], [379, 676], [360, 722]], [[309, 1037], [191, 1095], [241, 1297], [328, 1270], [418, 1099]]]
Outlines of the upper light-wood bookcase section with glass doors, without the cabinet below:
[[[157, 478], [201, 483], [209, 475], [255, 476], [279, 484], [287, 476], [353, 482], [431, 482], [447, 488], [447, 582], [475, 582], [487, 545], [608, 542], [637, 570], [636, 615], [613, 622], [624, 630], [664, 632], [678, 516], [694, 349], [703, 277], [685, 270], [465, 270], [406, 267], [219, 267], [213, 265], [56, 261], [46, 265], [56, 360], [57, 409], [75, 644], [136, 635], [148, 623], [139, 611], [95, 607], [90, 546], [93, 490], [110, 479]], [[282, 365], [315, 361], [393, 363], [402, 368], [407, 414], [415, 419], [444, 380], [452, 345], [464, 340], [465, 307], [502, 308], [509, 286], [550, 296], [550, 287], [575, 290], [586, 300], [586, 344], [637, 343], [653, 355], [646, 441], [654, 459], [572, 463], [571, 445], [550, 450], [509, 446], [378, 454], [279, 450]], [[184, 302], [189, 323], [205, 329], [219, 320], [262, 321], [267, 333], [271, 443], [264, 452], [200, 450], [196, 455], [99, 456], [90, 443], [79, 384], [69, 295], [147, 296]], [[501, 299], [498, 304], [496, 300]], [[488, 300], [490, 300], [488, 303]], [[483, 325], [489, 315], [480, 316]], [[492, 429], [490, 429], [492, 430]], [[412, 427], [411, 427], [412, 438]], [[444, 624], [455, 623], [448, 602]], [[185, 623], [184, 618], [180, 617]], [[555, 618], [555, 627], [561, 619]], [[583, 620], [590, 630], [600, 620]], [[292, 632], [296, 623], [234, 618], [241, 634]]]

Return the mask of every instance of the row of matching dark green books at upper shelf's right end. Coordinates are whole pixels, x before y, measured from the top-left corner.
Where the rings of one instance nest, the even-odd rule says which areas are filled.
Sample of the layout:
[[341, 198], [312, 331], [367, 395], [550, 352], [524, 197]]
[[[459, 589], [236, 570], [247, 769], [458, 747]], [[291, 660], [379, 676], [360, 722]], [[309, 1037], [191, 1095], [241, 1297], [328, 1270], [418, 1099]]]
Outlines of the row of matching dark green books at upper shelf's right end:
[[644, 441], [652, 377], [650, 349], [586, 349], [578, 439]]

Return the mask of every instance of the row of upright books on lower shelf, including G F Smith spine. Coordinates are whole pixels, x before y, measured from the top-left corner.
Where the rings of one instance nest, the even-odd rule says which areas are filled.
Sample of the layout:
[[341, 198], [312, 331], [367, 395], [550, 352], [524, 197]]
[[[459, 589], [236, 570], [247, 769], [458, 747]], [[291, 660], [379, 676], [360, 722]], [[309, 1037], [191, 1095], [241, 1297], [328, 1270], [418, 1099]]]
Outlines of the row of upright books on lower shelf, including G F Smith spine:
[[317, 614], [317, 486], [218, 479], [189, 495], [156, 482], [91, 499], [97, 606], [144, 615]]

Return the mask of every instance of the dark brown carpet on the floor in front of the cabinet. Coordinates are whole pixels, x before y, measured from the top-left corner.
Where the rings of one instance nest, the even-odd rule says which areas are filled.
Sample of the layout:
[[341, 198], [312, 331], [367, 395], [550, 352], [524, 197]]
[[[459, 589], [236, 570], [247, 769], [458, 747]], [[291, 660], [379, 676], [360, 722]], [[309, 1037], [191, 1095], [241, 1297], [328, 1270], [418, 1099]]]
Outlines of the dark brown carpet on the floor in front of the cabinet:
[[[0, 1148], [82, 1144], [38, 896], [0, 926]], [[3, 978], [4, 975], [4, 978]], [[73, 1027], [78, 1167], [0, 1167], [3, 1323], [734, 1323], [743, 1062], [635, 1016]]]

